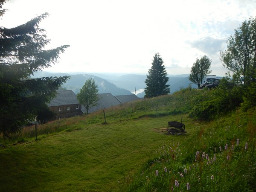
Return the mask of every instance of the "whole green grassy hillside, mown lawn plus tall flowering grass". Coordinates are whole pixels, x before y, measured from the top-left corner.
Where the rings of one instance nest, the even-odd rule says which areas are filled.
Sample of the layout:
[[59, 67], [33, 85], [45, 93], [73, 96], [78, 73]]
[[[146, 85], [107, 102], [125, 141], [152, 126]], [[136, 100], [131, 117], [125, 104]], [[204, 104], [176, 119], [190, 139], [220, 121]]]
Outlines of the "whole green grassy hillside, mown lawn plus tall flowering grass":
[[[255, 191], [256, 110], [211, 121], [189, 111], [212, 97], [189, 88], [0, 139], [0, 191]], [[167, 135], [168, 121], [186, 134]]]

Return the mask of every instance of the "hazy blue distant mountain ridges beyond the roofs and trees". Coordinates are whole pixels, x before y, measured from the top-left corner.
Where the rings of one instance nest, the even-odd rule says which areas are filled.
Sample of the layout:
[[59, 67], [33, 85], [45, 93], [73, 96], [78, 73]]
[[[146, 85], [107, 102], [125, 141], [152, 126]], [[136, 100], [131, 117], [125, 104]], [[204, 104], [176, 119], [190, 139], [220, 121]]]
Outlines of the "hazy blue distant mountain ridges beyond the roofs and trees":
[[[125, 75], [116, 75], [116, 74], [98, 74], [98, 73], [89, 73], [89, 74], [68, 74], [68, 73], [48, 73], [48, 72], [38, 72], [35, 74], [36, 77], [44, 76], [70, 76], [71, 79], [63, 85], [66, 89], [73, 90], [74, 93], [79, 93], [80, 88], [84, 85], [84, 82], [93, 78], [96, 84], [99, 87], [99, 93], [111, 93], [113, 96], [116, 95], [129, 95], [135, 92], [138, 97], [144, 97], [145, 93], [145, 79], [146, 75], [137, 75], [137, 74], [125, 74]], [[168, 76], [169, 81], [167, 84], [170, 85], [170, 93], [174, 93], [180, 88], [186, 88], [191, 84], [192, 88], [198, 88], [196, 84], [193, 84], [189, 81], [189, 74], [177, 75], [177, 76]], [[218, 77], [222, 78], [222, 77]]]

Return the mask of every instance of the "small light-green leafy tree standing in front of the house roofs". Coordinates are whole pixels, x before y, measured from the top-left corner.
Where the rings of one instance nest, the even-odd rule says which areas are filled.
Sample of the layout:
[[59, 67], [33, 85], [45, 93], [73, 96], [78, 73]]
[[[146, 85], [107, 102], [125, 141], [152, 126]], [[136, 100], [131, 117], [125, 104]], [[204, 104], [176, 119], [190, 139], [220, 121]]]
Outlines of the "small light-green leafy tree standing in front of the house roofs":
[[86, 80], [83, 87], [80, 89], [80, 92], [77, 93], [77, 99], [82, 105], [84, 105], [87, 114], [91, 107], [98, 105], [98, 101], [100, 99], [98, 97], [98, 93], [98, 85], [92, 78]]

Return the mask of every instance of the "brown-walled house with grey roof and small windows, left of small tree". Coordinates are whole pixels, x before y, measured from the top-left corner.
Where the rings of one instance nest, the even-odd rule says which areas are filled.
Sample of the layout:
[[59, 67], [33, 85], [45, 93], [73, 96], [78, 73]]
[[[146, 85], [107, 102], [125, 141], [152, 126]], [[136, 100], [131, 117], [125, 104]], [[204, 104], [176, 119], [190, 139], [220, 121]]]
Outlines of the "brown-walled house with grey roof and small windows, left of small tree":
[[49, 109], [56, 114], [55, 119], [82, 115], [81, 103], [72, 90], [58, 90], [57, 96], [48, 104]]

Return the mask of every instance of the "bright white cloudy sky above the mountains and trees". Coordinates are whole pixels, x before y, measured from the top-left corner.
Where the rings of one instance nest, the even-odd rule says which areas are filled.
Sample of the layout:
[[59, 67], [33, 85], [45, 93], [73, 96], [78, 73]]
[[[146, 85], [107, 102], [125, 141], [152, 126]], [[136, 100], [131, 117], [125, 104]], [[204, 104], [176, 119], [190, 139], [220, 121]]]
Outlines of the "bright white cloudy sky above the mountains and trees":
[[39, 25], [46, 49], [70, 47], [44, 71], [60, 73], [148, 74], [159, 53], [169, 75], [189, 74], [207, 55], [211, 74], [224, 76], [220, 51], [256, 17], [256, 0], [9, 0], [3, 8], [6, 28], [49, 13]]

